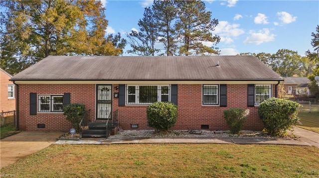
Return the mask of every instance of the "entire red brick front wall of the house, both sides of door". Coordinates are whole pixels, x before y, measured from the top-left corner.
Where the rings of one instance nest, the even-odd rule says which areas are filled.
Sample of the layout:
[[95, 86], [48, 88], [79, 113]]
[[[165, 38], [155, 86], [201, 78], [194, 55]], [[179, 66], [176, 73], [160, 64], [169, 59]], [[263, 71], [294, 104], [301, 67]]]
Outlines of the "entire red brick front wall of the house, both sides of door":
[[[119, 92], [114, 88], [113, 93]], [[273, 85], [273, 96], [275, 96]], [[83, 103], [88, 113], [88, 119], [95, 121], [95, 90], [94, 84], [55, 84], [19, 85], [19, 129], [20, 130], [69, 130], [71, 124], [62, 113], [38, 113], [29, 115], [29, 93], [63, 95], [71, 93], [71, 103]], [[261, 130], [263, 123], [258, 117], [257, 107], [247, 107], [247, 84], [227, 85], [227, 107], [202, 106], [202, 85], [178, 85], [178, 118], [173, 129], [200, 129], [201, 125], [209, 125], [210, 130], [228, 130], [223, 118], [223, 111], [229, 108], [246, 108], [250, 110], [244, 129]], [[114, 97], [114, 94], [112, 95]], [[113, 98], [113, 111], [118, 110], [118, 119], [123, 129], [131, 129], [131, 124], [139, 124], [139, 129], [152, 129], [147, 126], [147, 106], [118, 106], [118, 99]], [[37, 128], [38, 123], [44, 123], [45, 128]]]

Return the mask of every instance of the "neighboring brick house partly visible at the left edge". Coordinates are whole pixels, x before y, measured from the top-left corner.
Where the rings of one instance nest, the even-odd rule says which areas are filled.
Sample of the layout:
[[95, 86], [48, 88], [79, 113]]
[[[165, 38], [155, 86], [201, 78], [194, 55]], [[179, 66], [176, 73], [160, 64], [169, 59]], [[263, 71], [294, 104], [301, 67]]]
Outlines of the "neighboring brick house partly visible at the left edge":
[[9, 73], [0, 68], [0, 112], [15, 110], [14, 84]]

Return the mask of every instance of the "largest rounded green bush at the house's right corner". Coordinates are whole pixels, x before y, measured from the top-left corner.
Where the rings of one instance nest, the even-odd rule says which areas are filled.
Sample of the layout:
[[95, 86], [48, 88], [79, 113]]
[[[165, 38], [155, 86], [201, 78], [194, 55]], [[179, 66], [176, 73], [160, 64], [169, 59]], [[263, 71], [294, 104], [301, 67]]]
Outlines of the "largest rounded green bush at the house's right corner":
[[258, 114], [269, 135], [282, 136], [287, 129], [299, 123], [299, 107], [300, 104], [293, 101], [271, 98], [259, 105]]

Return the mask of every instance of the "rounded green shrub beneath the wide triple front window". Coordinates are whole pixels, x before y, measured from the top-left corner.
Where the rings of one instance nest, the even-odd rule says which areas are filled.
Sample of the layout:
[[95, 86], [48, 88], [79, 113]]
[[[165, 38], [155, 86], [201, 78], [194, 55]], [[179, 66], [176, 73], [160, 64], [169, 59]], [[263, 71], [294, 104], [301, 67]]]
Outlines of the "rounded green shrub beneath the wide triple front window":
[[147, 108], [148, 125], [159, 131], [167, 131], [177, 120], [177, 106], [168, 102], [152, 103]]

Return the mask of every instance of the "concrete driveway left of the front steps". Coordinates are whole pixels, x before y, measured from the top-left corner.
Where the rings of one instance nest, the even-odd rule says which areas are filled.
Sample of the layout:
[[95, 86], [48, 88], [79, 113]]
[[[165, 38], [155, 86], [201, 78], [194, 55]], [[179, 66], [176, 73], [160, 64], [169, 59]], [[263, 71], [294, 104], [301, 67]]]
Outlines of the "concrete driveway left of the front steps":
[[0, 140], [0, 168], [50, 146], [65, 131], [24, 131]]

